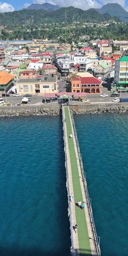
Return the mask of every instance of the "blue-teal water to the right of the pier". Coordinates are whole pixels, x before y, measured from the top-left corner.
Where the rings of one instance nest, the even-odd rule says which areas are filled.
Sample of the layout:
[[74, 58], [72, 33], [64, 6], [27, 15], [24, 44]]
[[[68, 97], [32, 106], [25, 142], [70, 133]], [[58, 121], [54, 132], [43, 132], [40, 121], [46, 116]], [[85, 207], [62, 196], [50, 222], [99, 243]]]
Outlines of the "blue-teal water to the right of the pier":
[[128, 115], [74, 116], [102, 256], [128, 255]]

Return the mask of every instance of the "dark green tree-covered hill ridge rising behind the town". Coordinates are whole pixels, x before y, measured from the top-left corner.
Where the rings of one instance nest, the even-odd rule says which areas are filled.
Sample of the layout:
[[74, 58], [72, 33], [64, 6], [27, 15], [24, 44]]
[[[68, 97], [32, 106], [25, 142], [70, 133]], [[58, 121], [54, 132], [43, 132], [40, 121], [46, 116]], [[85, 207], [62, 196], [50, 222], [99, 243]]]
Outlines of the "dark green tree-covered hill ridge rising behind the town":
[[[110, 17], [110, 16], [109, 16]], [[87, 11], [68, 7], [55, 11], [27, 10], [4, 12], [0, 14], [0, 24], [10, 28], [23, 24], [60, 23], [68, 22], [101, 22], [105, 16], [94, 9]]]

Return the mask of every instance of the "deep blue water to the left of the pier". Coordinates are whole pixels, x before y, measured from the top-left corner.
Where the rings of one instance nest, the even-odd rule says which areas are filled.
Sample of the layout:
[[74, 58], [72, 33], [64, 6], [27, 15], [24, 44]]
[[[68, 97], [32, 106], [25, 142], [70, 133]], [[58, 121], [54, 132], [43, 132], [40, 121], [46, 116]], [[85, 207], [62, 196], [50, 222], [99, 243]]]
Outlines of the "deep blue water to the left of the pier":
[[0, 255], [68, 256], [61, 117], [0, 120]]

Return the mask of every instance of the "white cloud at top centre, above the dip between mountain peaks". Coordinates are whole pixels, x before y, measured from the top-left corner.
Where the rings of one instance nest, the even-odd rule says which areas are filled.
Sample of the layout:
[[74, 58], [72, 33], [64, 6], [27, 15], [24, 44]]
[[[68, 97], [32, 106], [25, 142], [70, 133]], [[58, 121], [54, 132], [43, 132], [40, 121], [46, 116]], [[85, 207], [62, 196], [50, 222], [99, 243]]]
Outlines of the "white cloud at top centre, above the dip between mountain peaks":
[[[81, 1], [80, 0], [74, 0], [74, 1], [48, 0], [47, 2], [50, 4], [58, 4], [63, 7], [74, 6], [76, 8], [81, 8], [82, 10], [101, 7], [101, 4], [97, 0], [81, 0]], [[46, 3], [46, 0], [33, 0], [33, 3], [43, 4], [43, 3]]]

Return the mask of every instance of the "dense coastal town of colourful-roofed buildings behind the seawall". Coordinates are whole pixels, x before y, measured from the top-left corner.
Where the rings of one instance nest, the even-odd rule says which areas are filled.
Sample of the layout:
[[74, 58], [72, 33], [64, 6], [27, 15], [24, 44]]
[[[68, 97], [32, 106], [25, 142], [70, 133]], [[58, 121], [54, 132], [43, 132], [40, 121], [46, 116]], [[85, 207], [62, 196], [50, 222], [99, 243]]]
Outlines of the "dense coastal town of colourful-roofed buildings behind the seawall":
[[[87, 40], [86, 40], [87, 39]], [[84, 41], [84, 42], [83, 42]], [[128, 41], [0, 41], [1, 106], [119, 102], [128, 97]]]

